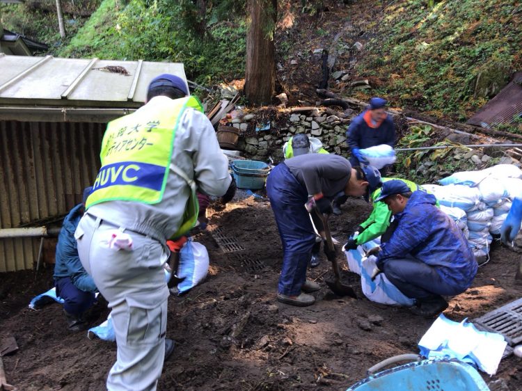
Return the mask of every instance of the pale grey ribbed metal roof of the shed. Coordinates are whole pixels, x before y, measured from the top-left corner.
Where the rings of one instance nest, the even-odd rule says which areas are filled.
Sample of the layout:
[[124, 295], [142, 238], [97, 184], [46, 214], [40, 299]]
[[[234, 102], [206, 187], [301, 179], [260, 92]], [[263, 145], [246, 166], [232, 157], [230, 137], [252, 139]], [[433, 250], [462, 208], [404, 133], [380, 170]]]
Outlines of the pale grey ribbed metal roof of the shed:
[[[108, 72], [108, 66], [124, 67], [129, 76]], [[175, 74], [187, 83], [182, 63], [0, 54], [0, 106], [135, 109], [145, 102], [150, 81], [161, 73]]]

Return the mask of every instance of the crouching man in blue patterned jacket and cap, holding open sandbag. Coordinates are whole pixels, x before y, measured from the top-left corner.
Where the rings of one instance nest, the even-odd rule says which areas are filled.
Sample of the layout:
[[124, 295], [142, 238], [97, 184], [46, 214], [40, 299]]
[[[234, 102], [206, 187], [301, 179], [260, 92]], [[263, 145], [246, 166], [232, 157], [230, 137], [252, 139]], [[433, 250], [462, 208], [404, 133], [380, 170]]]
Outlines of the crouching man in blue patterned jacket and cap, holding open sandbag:
[[436, 198], [413, 191], [399, 180], [384, 182], [376, 201], [395, 216], [390, 241], [377, 255], [377, 270], [409, 298], [413, 314], [434, 317], [446, 308], [442, 296], [464, 292], [477, 273], [477, 262], [457, 225], [435, 206]]

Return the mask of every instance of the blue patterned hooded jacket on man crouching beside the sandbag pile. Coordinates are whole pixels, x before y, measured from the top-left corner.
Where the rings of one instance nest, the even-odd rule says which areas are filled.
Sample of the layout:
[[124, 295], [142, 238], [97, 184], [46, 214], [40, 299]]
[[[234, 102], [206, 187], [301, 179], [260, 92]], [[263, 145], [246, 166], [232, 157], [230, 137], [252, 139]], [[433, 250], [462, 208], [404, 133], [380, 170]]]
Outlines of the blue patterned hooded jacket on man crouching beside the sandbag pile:
[[434, 266], [449, 285], [467, 289], [477, 274], [475, 256], [461, 230], [435, 203], [432, 194], [413, 192], [404, 211], [395, 215], [397, 229], [382, 245], [377, 267], [383, 270], [394, 258], [412, 256]]

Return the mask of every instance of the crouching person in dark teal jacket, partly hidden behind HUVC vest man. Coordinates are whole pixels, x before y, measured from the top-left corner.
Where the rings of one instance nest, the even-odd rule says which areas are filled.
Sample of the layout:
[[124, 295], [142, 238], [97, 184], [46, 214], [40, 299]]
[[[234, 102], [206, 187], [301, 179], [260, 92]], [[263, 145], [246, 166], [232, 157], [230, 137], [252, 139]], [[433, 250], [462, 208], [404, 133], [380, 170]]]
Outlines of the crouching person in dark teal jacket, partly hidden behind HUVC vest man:
[[54, 286], [56, 294], [63, 298], [63, 312], [71, 331], [86, 330], [84, 312], [95, 303], [96, 285], [88, 275], [78, 256], [74, 231], [81, 216], [84, 215], [85, 201], [92, 187], [84, 190], [83, 203], [71, 209], [63, 220], [56, 245], [56, 264], [54, 265]]

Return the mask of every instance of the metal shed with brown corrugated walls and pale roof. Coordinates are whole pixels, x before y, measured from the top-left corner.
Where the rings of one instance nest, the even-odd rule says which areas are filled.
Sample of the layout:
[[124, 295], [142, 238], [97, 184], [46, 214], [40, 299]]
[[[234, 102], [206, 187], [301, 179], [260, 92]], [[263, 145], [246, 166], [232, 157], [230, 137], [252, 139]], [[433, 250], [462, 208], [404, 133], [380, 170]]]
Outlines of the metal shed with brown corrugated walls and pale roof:
[[[106, 123], [142, 106], [161, 73], [187, 80], [181, 63], [0, 54], [0, 272], [33, 267], [38, 232], [93, 183]], [[27, 227], [37, 236], [6, 230]]]

